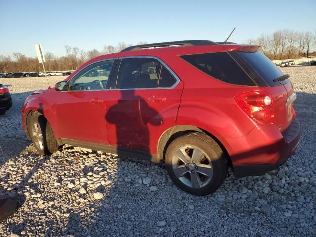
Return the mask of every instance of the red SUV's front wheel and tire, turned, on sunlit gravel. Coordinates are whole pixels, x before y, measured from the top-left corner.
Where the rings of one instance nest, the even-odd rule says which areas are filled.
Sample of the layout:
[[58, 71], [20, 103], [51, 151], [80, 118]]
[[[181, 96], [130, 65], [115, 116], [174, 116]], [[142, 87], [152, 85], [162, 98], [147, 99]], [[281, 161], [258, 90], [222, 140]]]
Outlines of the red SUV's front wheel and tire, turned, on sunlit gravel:
[[59, 146], [54, 132], [42, 114], [36, 111], [31, 112], [27, 118], [27, 128], [33, 145], [39, 154], [49, 155], [58, 150]]

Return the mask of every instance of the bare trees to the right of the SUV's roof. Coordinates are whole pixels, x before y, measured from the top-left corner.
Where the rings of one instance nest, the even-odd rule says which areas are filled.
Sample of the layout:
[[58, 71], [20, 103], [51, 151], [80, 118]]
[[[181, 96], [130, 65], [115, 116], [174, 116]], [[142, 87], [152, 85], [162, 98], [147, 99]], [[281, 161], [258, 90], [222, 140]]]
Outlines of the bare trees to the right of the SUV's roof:
[[256, 39], [250, 38], [245, 43], [260, 45], [260, 50], [271, 60], [309, 57], [316, 55], [311, 52], [316, 46], [316, 30], [314, 33], [278, 30], [271, 34], [263, 33]]

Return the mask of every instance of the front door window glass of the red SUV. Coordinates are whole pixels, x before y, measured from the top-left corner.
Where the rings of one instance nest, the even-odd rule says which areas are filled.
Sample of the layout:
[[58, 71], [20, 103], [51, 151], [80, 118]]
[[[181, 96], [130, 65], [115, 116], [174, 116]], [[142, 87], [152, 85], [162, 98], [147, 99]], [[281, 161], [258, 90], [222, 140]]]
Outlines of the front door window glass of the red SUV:
[[70, 90], [105, 90], [113, 63], [107, 60], [87, 66], [71, 80]]

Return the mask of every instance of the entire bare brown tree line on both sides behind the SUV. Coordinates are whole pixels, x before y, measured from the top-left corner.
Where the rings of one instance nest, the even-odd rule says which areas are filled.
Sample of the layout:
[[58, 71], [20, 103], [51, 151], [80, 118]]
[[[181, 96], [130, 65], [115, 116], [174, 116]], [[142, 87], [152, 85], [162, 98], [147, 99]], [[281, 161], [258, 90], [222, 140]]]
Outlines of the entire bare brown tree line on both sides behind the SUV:
[[[138, 44], [145, 44], [139, 42]], [[271, 34], [263, 33], [258, 38], [245, 41], [248, 44], [260, 45], [260, 50], [271, 60], [309, 57], [316, 52], [310, 51], [316, 46], [316, 30], [312, 32], [296, 32], [289, 29], [278, 30]], [[53, 53], [45, 54], [46, 71], [75, 70], [80, 65], [99, 55], [120, 52], [131, 46], [124, 42], [117, 46], [105, 45], [103, 50], [92, 49], [85, 51], [78, 47], [65, 45], [65, 56], [57, 57]], [[36, 57], [26, 57], [22, 53], [13, 53], [11, 56], [0, 55], [0, 72], [41, 72], [42, 65]]]

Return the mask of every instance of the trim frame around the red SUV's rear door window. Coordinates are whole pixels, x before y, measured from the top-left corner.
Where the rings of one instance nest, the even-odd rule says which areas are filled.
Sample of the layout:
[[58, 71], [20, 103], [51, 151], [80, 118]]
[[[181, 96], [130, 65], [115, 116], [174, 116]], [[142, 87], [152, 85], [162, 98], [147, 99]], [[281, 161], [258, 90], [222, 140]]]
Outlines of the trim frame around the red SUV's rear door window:
[[[157, 87], [152, 87], [152, 88], [123, 88], [123, 89], [117, 89], [117, 81], [118, 81], [118, 73], [119, 73], [119, 68], [120, 68], [120, 65], [121, 65], [121, 62], [122, 62], [122, 59], [126, 59], [126, 58], [153, 58], [153, 59], [156, 59], [158, 60], [162, 66], [164, 66], [168, 71], [169, 73], [171, 73], [171, 75], [176, 79], [176, 82], [172, 85], [172, 86], [169, 86], [169, 87], [158, 87], [159, 85], [159, 82], [157, 84]], [[113, 83], [113, 85], [115, 85], [115, 88], [111, 88], [110, 90], [165, 90], [165, 89], [173, 89], [175, 88], [179, 82], [180, 82], [180, 78], [178, 77], [178, 75], [175, 74], [175, 72], [165, 63], [163, 62], [160, 58], [158, 57], [155, 57], [155, 56], [125, 56], [125, 57], [118, 57], [118, 59], [120, 59], [120, 62], [119, 62], [119, 65], [118, 65], [118, 72], [117, 74], [115, 75], [115, 83]], [[160, 67], [160, 72], [161, 73], [161, 68]], [[160, 76], [160, 74], [159, 74]], [[159, 80], [159, 78], [158, 78]]]

